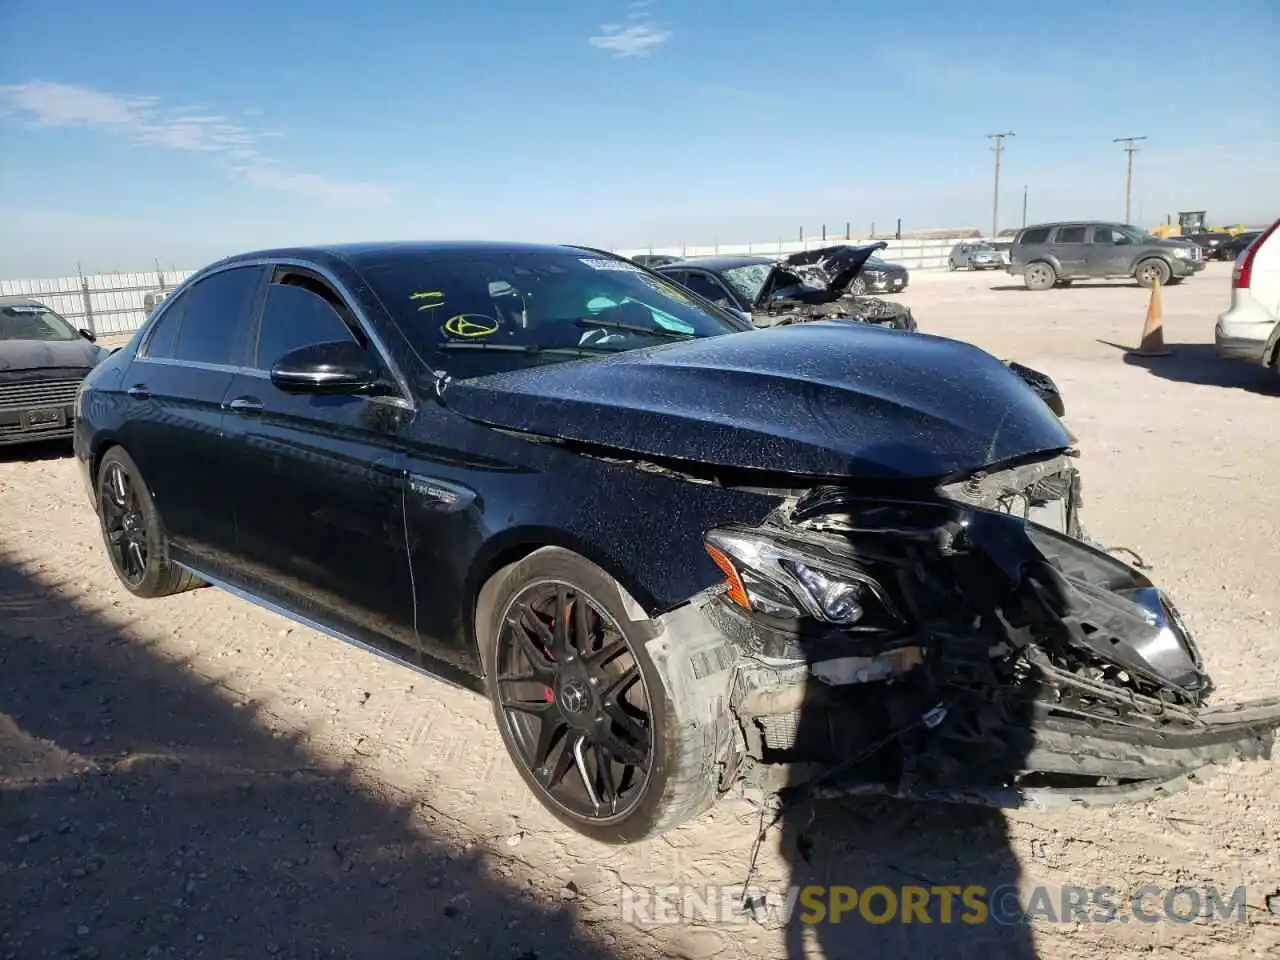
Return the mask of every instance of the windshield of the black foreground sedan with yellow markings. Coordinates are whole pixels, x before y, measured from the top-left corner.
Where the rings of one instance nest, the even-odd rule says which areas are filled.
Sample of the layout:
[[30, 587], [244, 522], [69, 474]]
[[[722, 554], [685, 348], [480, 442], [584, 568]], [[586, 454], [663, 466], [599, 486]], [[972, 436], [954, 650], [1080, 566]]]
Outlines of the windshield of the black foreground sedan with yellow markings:
[[406, 255], [362, 273], [424, 362], [457, 379], [745, 329], [588, 251]]

